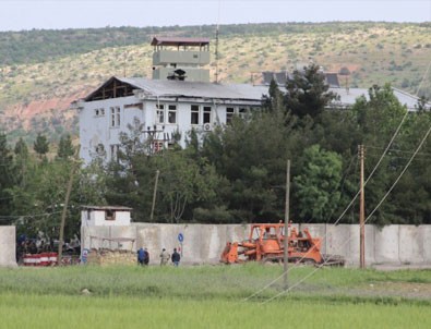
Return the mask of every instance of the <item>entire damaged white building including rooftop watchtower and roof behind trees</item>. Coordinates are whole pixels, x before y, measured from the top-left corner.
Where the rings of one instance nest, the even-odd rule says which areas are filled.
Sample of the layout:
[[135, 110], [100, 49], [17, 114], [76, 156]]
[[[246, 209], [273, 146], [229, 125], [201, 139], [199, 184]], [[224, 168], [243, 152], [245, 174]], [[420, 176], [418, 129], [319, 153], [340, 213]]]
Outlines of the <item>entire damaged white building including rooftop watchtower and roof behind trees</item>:
[[[208, 39], [154, 38], [153, 80], [110, 77], [83, 100], [79, 109], [81, 158], [89, 163], [99, 156], [105, 161], [116, 158], [120, 133], [130, 133], [129, 125], [142, 124], [141, 138], [148, 141], [149, 151], [157, 151], [181, 134], [184, 146], [192, 129], [202, 138], [216, 125], [229, 124], [234, 115], [247, 117], [261, 107], [264, 85], [209, 83]], [[267, 75], [267, 74], [266, 74]], [[278, 74], [279, 75], [279, 74]], [[352, 105], [367, 89], [339, 88], [338, 107]], [[264, 81], [265, 83], [265, 81]], [[409, 109], [417, 102], [411, 95], [395, 90]]]

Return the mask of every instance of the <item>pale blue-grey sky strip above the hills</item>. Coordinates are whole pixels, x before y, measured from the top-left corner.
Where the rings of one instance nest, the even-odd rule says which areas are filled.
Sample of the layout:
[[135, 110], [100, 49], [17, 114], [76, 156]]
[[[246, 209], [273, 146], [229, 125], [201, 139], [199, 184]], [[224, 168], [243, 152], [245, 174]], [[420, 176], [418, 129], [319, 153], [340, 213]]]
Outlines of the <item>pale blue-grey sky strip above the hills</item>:
[[430, 22], [431, 0], [0, 0], [0, 31], [330, 21]]

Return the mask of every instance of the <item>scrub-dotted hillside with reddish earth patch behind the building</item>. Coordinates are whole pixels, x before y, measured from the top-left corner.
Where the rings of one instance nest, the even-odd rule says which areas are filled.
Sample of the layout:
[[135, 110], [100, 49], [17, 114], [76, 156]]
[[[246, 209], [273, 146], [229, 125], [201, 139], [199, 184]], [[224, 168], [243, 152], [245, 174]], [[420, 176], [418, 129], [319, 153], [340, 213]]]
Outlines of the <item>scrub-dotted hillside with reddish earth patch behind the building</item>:
[[[0, 131], [10, 141], [33, 141], [45, 132], [52, 141], [76, 135], [73, 99], [111, 75], [151, 77], [154, 35], [205, 36], [214, 26], [107, 27], [98, 29], [0, 33]], [[262, 71], [290, 70], [310, 61], [337, 72], [347, 66], [348, 84], [373, 84], [418, 93], [431, 58], [431, 24], [324, 23], [220, 26], [219, 76], [251, 82]], [[215, 62], [211, 65], [214, 76]], [[431, 73], [419, 95], [431, 96]]]

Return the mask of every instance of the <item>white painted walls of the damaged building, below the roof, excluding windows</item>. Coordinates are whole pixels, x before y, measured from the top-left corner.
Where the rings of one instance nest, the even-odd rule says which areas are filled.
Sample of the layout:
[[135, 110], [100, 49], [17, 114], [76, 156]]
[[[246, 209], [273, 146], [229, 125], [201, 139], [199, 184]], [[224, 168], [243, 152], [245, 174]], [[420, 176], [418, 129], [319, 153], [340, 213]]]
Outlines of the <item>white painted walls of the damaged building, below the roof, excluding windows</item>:
[[[83, 108], [80, 110], [80, 142], [81, 150], [80, 156], [86, 164], [88, 164], [96, 154], [96, 146], [99, 144], [104, 145], [106, 157], [105, 160], [109, 161], [112, 158], [111, 145], [119, 145], [119, 134], [121, 132], [130, 133], [128, 125], [134, 126], [135, 119], [144, 125], [144, 131], [154, 130], [156, 127], [155, 139], [163, 139], [164, 134], [171, 136], [176, 131], [181, 133], [180, 145], [185, 146], [185, 139], [188, 132], [194, 129], [197, 132], [200, 138], [203, 138], [207, 131], [204, 131], [203, 124], [203, 107], [212, 107], [212, 129], [215, 124], [226, 124], [226, 107], [234, 107], [238, 111], [238, 107], [247, 107], [238, 103], [217, 103], [212, 99], [183, 99], [172, 101], [172, 98], [160, 98], [160, 99], [140, 99], [136, 96], [110, 98], [104, 100], [95, 100], [83, 102]], [[143, 103], [143, 109], [139, 108], [125, 108], [124, 105]], [[157, 123], [156, 118], [156, 106], [157, 103], [165, 105], [165, 122]], [[200, 105], [200, 124], [191, 124], [191, 105]], [[168, 122], [168, 105], [177, 106], [177, 122]], [[111, 126], [110, 108], [119, 107], [121, 112], [121, 120], [119, 126]], [[96, 115], [96, 109], [104, 109], [104, 115]], [[143, 135], [146, 138], [147, 135]]]

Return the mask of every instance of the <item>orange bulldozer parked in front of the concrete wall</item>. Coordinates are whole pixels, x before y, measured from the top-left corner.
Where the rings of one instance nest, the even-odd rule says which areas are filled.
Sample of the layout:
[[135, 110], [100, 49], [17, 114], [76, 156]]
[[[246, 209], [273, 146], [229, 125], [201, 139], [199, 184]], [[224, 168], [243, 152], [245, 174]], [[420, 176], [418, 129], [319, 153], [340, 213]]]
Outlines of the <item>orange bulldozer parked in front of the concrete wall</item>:
[[[284, 223], [256, 223], [251, 226], [249, 239], [238, 242], [228, 242], [222, 253], [220, 261], [225, 264], [242, 263], [249, 260], [256, 261], [283, 261]], [[337, 255], [322, 255], [321, 237], [312, 237], [309, 230], [298, 232], [295, 228], [289, 228], [288, 260], [294, 263], [304, 263], [312, 265], [340, 265], [345, 260]]]

